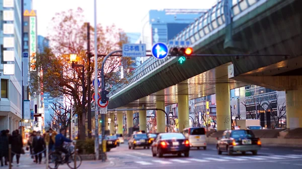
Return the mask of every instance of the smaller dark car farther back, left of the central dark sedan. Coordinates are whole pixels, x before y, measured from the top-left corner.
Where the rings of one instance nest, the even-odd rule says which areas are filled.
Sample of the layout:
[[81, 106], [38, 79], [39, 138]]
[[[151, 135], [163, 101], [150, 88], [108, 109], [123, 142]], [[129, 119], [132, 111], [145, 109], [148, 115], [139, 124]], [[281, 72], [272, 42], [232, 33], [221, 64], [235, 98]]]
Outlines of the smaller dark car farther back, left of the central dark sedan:
[[135, 147], [143, 147], [144, 149], [147, 147], [149, 149], [150, 144], [148, 144], [148, 141], [146, 133], [132, 134], [128, 141], [128, 147], [129, 149], [135, 149]]

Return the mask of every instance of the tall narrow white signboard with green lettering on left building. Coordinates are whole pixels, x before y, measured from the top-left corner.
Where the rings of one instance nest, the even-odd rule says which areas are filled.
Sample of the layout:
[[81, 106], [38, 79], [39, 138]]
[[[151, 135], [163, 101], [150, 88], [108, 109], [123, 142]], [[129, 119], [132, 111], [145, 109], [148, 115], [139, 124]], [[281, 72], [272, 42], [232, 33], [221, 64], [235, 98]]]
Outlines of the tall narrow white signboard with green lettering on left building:
[[[36, 61], [36, 50], [37, 50], [37, 41], [36, 41], [36, 17], [30, 17], [30, 63], [33, 64]], [[30, 67], [30, 71], [35, 71], [34, 67]]]

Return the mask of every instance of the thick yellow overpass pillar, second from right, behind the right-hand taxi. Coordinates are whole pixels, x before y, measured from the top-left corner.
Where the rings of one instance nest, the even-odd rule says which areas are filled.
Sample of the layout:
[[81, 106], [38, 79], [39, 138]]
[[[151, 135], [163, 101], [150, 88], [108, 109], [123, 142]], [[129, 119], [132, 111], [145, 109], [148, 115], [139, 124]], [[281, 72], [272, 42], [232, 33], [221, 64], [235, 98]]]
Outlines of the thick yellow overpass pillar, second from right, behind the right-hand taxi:
[[231, 129], [231, 105], [229, 83], [216, 83], [217, 130]]

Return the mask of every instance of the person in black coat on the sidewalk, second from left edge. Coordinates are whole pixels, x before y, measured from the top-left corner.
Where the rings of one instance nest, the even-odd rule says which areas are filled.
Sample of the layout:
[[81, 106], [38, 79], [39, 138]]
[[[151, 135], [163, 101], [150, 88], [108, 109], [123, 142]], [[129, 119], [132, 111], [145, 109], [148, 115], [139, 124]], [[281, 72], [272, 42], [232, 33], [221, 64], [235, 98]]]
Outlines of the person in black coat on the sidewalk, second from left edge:
[[12, 135], [9, 137], [9, 143], [12, 145], [11, 162], [13, 164], [13, 159], [16, 155], [17, 166], [19, 166], [20, 154], [22, 153], [23, 144], [16, 130], [13, 131]]

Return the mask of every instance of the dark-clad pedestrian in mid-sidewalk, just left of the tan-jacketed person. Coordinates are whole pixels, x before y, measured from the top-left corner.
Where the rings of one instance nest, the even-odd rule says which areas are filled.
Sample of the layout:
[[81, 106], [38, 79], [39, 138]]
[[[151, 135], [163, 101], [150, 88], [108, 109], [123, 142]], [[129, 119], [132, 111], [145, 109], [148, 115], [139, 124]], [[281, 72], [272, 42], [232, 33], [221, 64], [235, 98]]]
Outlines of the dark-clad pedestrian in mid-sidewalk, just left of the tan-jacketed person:
[[39, 164], [40, 164], [42, 161], [42, 151], [45, 149], [45, 142], [44, 139], [41, 137], [40, 131], [37, 132], [37, 136], [33, 139], [33, 148], [34, 148], [36, 163], [38, 163], [39, 160]]

